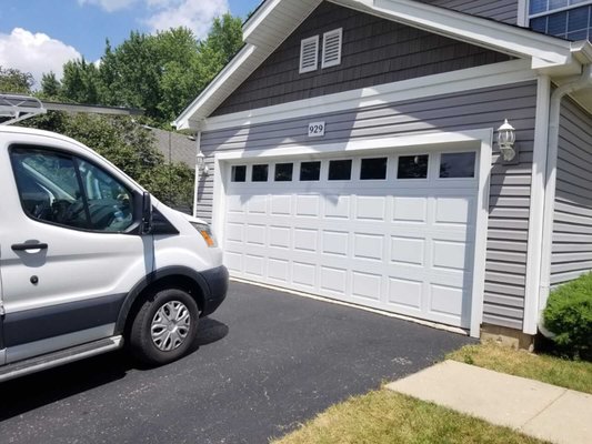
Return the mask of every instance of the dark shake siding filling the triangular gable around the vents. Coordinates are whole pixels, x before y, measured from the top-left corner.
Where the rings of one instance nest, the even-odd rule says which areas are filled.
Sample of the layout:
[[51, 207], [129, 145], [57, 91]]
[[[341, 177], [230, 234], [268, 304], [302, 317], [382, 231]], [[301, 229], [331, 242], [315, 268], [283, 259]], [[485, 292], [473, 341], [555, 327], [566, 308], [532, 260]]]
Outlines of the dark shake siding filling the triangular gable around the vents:
[[[302, 39], [343, 28], [341, 64], [299, 73]], [[212, 115], [510, 60], [509, 56], [323, 2]]]

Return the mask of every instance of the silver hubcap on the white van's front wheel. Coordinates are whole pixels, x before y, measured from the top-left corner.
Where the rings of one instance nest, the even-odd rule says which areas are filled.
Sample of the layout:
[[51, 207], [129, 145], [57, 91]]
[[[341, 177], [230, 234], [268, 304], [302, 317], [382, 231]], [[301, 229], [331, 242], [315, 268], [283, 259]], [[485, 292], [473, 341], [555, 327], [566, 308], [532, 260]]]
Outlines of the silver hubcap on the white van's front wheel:
[[154, 345], [163, 352], [179, 347], [189, 334], [189, 310], [179, 301], [167, 302], [152, 319], [150, 332]]

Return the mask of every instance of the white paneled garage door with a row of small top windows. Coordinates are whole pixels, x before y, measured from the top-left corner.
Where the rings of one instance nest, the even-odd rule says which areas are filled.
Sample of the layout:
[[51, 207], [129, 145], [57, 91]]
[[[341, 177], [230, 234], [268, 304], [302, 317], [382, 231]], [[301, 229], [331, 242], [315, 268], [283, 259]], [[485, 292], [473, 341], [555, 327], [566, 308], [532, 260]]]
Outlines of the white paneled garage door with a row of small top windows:
[[468, 327], [478, 153], [232, 163], [233, 276]]

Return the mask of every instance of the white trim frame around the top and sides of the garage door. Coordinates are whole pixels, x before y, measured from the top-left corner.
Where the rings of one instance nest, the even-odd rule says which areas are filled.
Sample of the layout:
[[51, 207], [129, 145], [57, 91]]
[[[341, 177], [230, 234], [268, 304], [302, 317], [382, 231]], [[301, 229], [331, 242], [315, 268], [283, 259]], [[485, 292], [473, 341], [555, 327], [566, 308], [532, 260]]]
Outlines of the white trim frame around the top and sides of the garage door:
[[[407, 149], [438, 149], [446, 144], [471, 144], [479, 150], [479, 192], [475, 222], [475, 243], [473, 262], [473, 282], [471, 300], [471, 331], [473, 337], [479, 337], [483, 321], [483, 292], [485, 283], [486, 232], [489, 219], [489, 192], [491, 150], [493, 129], [470, 130], [463, 132], [430, 132], [394, 138], [363, 139], [340, 143], [310, 143], [289, 148], [269, 150], [237, 150], [214, 154], [214, 195], [212, 211], [212, 226], [219, 239], [224, 238], [225, 184], [230, 176], [230, 163], [237, 160], [272, 159], [283, 157], [322, 155], [330, 153], [363, 153], [375, 150], [390, 149], [394, 151]], [[480, 235], [481, 234], [481, 235]]]

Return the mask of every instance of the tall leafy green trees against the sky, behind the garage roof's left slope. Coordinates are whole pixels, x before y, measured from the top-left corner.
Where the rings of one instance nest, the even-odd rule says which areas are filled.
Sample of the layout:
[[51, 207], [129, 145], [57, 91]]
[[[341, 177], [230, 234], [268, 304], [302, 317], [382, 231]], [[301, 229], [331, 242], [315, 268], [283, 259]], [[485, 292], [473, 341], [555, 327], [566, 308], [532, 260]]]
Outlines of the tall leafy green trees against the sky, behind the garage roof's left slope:
[[241, 46], [241, 20], [228, 13], [200, 42], [187, 28], [134, 31], [114, 49], [107, 40], [98, 68], [83, 59], [66, 63], [60, 93], [78, 103], [139, 108], [151, 124], [168, 128]]

